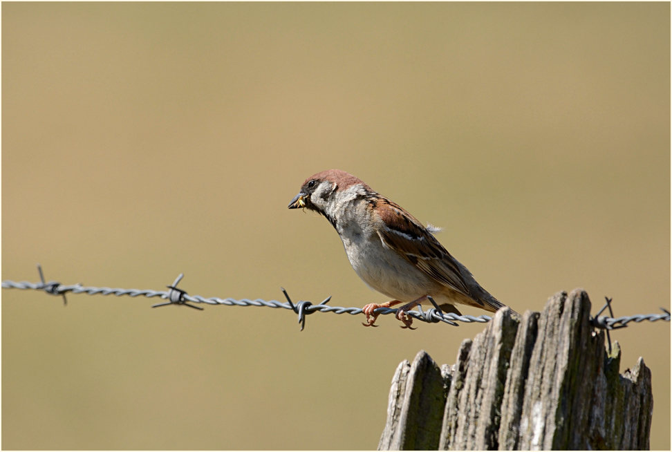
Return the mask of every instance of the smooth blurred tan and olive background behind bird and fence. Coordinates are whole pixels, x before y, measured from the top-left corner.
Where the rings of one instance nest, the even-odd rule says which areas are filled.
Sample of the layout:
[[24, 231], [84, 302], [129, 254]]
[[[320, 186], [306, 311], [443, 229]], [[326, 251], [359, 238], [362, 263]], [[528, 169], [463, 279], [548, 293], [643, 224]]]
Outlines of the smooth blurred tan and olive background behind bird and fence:
[[[669, 3], [3, 3], [2, 279], [386, 301], [287, 209], [349, 171], [515, 310], [670, 307]], [[375, 449], [480, 325], [2, 290], [3, 449]], [[469, 314], [481, 314], [466, 310]], [[653, 372], [670, 325], [613, 332]]]

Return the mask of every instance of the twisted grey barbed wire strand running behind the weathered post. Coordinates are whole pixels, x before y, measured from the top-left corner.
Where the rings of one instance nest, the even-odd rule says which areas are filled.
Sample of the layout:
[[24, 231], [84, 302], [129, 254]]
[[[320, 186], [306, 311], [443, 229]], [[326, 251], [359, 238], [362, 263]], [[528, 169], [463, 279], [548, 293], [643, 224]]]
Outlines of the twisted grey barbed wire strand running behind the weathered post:
[[[66, 305], [68, 303], [66, 299], [66, 293], [72, 292], [73, 294], [89, 294], [89, 295], [115, 295], [115, 296], [145, 296], [147, 298], [152, 298], [158, 296], [160, 299], [165, 299], [167, 301], [163, 303], [156, 303], [153, 304], [151, 307], [152, 308], [160, 308], [161, 306], [167, 306], [167, 305], [185, 305], [188, 306], [189, 308], [194, 308], [197, 310], [203, 310], [203, 307], [197, 306], [192, 303], [205, 303], [209, 305], [227, 305], [227, 306], [265, 306], [268, 308], [284, 308], [284, 309], [289, 309], [295, 312], [295, 314], [298, 315], [299, 317], [299, 323], [301, 324], [301, 331], [304, 330], [306, 326], [306, 316], [309, 314], [313, 314], [315, 312], [333, 312], [335, 314], [351, 314], [351, 315], [356, 315], [356, 314], [362, 314], [362, 308], [342, 308], [339, 306], [328, 306], [326, 303], [328, 303], [331, 299], [331, 296], [326, 297], [326, 299], [322, 300], [318, 304], [313, 304], [310, 301], [298, 301], [297, 303], [294, 303], [292, 299], [290, 299], [289, 294], [284, 288], [280, 288], [281, 291], [283, 292], [285, 298], [287, 299], [286, 302], [281, 302], [277, 300], [270, 300], [270, 301], [265, 301], [262, 299], [232, 299], [232, 298], [226, 298], [226, 299], [221, 299], [217, 297], [209, 297], [205, 298], [204, 296], [200, 295], [189, 295], [185, 290], [178, 289], [177, 285], [180, 283], [180, 281], [183, 279], [184, 275], [179, 274], [178, 277], [175, 279], [175, 281], [171, 285], [167, 285], [166, 287], [169, 290], [139, 290], [139, 289], [121, 289], [121, 288], [97, 288], [97, 287], [86, 287], [84, 285], [81, 285], [80, 283], [73, 284], [73, 285], [64, 285], [62, 283], [59, 283], [58, 281], [49, 281], [45, 282], [44, 281], [44, 273], [42, 272], [42, 267], [41, 265], [37, 265], [37, 270], [39, 272], [39, 278], [40, 282], [39, 283], [30, 283], [28, 281], [2, 281], [2, 288], [3, 289], [21, 289], [21, 290], [41, 290], [44, 291], [48, 294], [55, 295], [55, 296], [62, 296], [63, 297], [63, 303]], [[422, 307], [418, 305], [418, 310], [417, 311], [407, 311], [407, 314], [413, 319], [418, 319], [419, 321], [424, 321], [427, 323], [448, 323], [449, 325], [452, 326], [458, 326], [458, 323], [456, 322], [465, 322], [465, 323], [487, 323], [492, 320], [492, 317], [489, 317], [485, 314], [480, 315], [478, 317], [474, 317], [472, 315], [459, 315], [454, 312], [448, 312], [444, 313], [442, 310], [438, 307], [436, 302], [430, 297], [429, 301], [433, 304], [433, 308], [430, 308], [429, 310], [425, 311], [422, 310]], [[606, 298], [606, 297], [605, 297]], [[590, 323], [592, 326], [595, 328], [599, 328], [602, 330], [606, 330], [607, 332], [607, 337], [609, 336], [609, 330], [617, 330], [619, 328], [625, 328], [628, 326], [628, 323], [634, 321], [635, 323], [640, 323], [642, 321], [670, 321], [670, 312], [669, 310], [666, 310], [665, 308], [660, 308], [663, 313], [662, 314], [635, 314], [631, 316], [625, 316], [625, 317], [613, 317], [613, 310], [611, 308], [611, 301], [612, 299], [606, 298], [606, 304], [604, 307], [597, 312], [597, 315], [595, 317], [590, 318]], [[610, 317], [606, 316], [601, 316], [602, 312], [604, 310], [608, 309]], [[398, 311], [396, 308], [377, 308], [374, 310], [375, 314], [395, 314]], [[611, 340], [608, 337], [609, 340], [609, 346], [611, 346]]]

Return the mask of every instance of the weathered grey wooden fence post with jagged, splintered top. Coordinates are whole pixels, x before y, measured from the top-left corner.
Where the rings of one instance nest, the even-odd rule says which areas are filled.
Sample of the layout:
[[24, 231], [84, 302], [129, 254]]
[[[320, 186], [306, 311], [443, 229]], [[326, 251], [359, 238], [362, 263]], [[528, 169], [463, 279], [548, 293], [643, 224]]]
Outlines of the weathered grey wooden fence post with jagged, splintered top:
[[404, 360], [378, 449], [648, 449], [651, 370], [619, 374], [589, 319], [584, 290], [560, 292], [541, 314], [497, 312], [452, 366]]

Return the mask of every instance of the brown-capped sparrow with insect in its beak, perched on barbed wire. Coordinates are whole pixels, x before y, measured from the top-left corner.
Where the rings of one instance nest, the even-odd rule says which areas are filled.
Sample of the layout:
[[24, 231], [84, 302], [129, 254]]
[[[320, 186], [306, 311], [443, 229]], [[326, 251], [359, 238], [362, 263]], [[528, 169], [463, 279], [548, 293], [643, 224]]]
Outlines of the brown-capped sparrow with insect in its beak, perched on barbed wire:
[[505, 305], [474, 279], [467, 267], [451, 256], [433, 232], [408, 211], [339, 169], [310, 176], [288, 205], [323, 215], [343, 241], [348, 260], [362, 281], [389, 296], [386, 303], [362, 308], [364, 326], [374, 325], [377, 308], [398, 308], [396, 317], [411, 328], [407, 311], [428, 304], [431, 296], [444, 312], [460, 311], [456, 304], [496, 312]]

